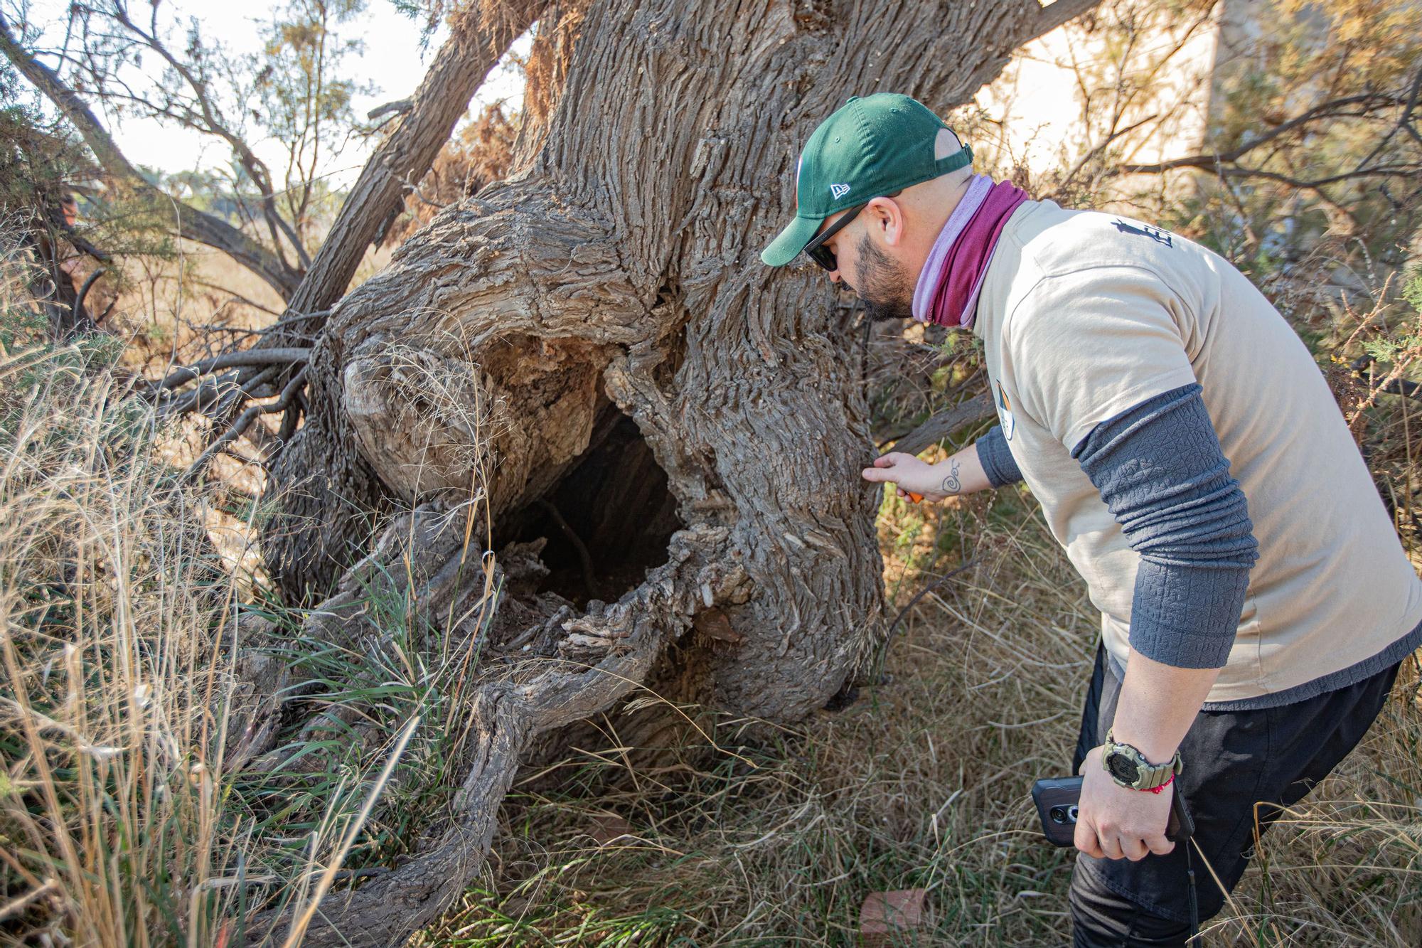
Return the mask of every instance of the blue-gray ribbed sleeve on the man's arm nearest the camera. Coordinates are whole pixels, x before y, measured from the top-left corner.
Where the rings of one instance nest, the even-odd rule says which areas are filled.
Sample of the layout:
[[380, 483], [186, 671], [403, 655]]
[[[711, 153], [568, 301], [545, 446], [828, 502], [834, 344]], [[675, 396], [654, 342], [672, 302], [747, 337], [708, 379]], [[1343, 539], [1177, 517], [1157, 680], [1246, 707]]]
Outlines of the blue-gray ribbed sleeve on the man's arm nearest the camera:
[[1130, 646], [1163, 665], [1223, 668], [1258, 542], [1200, 386], [1102, 421], [1071, 455], [1140, 554]]

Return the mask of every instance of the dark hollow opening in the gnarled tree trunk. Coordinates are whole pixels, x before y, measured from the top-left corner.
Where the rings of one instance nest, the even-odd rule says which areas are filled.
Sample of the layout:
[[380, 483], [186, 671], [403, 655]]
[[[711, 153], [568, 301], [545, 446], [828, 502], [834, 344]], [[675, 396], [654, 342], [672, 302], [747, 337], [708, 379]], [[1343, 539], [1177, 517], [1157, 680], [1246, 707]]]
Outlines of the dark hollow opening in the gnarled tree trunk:
[[542, 497], [510, 511], [495, 549], [543, 537], [549, 575], [538, 592], [556, 592], [579, 608], [616, 602], [648, 569], [667, 561], [671, 534], [683, 528], [667, 473], [637, 423], [607, 404], [587, 448]]

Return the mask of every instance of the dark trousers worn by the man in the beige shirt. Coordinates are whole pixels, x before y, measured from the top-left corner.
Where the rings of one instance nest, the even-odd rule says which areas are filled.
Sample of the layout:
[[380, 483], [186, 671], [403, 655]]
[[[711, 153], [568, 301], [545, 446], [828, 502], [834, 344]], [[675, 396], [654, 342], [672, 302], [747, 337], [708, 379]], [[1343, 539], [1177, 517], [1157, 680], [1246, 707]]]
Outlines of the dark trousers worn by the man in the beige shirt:
[[[1313, 790], [1367, 733], [1398, 675], [1398, 665], [1317, 697], [1258, 710], [1202, 710], [1180, 743], [1185, 769], [1175, 780], [1194, 817], [1194, 877], [1200, 921], [1224, 907], [1244, 873], [1256, 834]], [[1096, 652], [1072, 771], [1101, 744], [1116, 715], [1121, 682]], [[1200, 855], [1209, 860], [1221, 890]], [[1189, 935], [1185, 844], [1139, 863], [1076, 854], [1071, 881], [1072, 944], [1183, 945]]]

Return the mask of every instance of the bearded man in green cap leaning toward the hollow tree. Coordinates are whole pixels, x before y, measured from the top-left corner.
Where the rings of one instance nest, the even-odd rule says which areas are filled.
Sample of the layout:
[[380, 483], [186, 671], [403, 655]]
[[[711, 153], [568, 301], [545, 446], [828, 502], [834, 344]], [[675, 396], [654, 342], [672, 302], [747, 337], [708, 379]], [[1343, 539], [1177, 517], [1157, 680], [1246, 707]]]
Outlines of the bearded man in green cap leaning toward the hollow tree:
[[1422, 645], [1422, 582], [1321, 373], [1221, 258], [974, 177], [904, 95], [830, 115], [796, 198], [765, 263], [803, 251], [870, 317], [983, 339], [1000, 424], [939, 464], [892, 453], [863, 477], [930, 500], [1018, 480], [1037, 495], [1102, 613], [1075, 944], [1183, 944], [1172, 794], [1209, 861], [1209, 918], [1213, 878], [1239, 881], [1257, 827], [1358, 743]]

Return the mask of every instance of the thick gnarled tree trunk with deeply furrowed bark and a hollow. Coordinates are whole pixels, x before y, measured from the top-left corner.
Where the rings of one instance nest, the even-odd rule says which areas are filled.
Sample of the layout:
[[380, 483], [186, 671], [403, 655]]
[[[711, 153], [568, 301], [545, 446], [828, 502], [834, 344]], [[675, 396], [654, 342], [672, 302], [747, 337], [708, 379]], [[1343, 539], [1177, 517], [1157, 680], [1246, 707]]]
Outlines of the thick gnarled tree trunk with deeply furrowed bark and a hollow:
[[441, 911], [538, 733], [610, 707], [671, 643], [700, 693], [775, 722], [866, 666], [884, 604], [860, 357], [822, 275], [758, 252], [791, 214], [799, 147], [848, 95], [947, 111], [1089, 6], [594, 3], [536, 157], [337, 306], [276, 470], [287, 594], [330, 589], [380, 504], [448, 508], [482, 467], [501, 561], [546, 538], [523, 596], [547, 606], [535, 652], [603, 651], [556, 683], [485, 686], [458, 826], [330, 900], [316, 944], [394, 944]]

